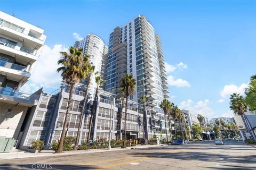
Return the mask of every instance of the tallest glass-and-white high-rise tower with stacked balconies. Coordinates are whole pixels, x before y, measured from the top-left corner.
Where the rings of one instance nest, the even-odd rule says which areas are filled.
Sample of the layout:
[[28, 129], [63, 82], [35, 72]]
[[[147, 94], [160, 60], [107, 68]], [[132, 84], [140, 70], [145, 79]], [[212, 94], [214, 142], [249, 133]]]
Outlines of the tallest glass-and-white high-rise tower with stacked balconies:
[[142, 107], [142, 96], [150, 100], [147, 102], [147, 127], [149, 120], [152, 120], [155, 126], [152, 132], [146, 130], [146, 138], [153, 134], [164, 135], [166, 130], [169, 133], [162, 123], [164, 114], [159, 107], [161, 101], [169, 97], [162, 45], [147, 18], [139, 15], [122, 27], [116, 27], [110, 33], [109, 53], [104, 58], [103, 75], [106, 78], [106, 91], [120, 94], [119, 86], [123, 75], [132, 74], [136, 88], [130, 100], [137, 102], [139, 109]]

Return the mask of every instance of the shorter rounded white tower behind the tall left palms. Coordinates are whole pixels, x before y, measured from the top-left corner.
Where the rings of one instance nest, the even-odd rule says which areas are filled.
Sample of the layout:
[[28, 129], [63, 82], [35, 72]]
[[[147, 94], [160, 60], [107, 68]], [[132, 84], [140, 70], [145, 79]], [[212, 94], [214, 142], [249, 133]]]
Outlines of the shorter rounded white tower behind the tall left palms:
[[[101, 74], [102, 57], [108, 53], [108, 47], [104, 44], [103, 40], [95, 35], [87, 35], [86, 38], [81, 41], [76, 41], [75, 47], [83, 48], [83, 55], [90, 55], [90, 63], [95, 66], [94, 73], [98, 72]], [[91, 78], [90, 89], [95, 89], [97, 84], [95, 83], [95, 74]]]

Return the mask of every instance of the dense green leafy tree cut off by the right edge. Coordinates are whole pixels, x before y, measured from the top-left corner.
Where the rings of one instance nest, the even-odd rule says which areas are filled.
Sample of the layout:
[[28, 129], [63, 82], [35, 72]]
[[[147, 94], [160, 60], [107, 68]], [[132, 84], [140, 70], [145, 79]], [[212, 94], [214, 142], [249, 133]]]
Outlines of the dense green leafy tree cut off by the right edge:
[[245, 103], [250, 111], [256, 111], [256, 74], [252, 75], [249, 87], [245, 89]]

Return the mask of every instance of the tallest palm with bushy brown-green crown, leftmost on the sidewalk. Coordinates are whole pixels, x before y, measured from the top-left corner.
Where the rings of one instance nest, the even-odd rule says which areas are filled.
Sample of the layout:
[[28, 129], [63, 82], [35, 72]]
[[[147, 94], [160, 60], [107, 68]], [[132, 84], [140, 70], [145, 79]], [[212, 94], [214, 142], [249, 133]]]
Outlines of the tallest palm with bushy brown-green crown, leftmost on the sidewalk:
[[67, 111], [65, 115], [65, 120], [63, 123], [63, 130], [61, 133], [57, 153], [63, 152], [63, 142], [66, 134], [68, 114], [70, 111], [70, 106], [72, 102], [73, 92], [75, 84], [81, 79], [86, 77], [86, 64], [88, 62], [88, 57], [82, 56], [83, 48], [69, 47], [69, 54], [67, 52], [60, 52], [61, 57], [58, 61], [58, 65], [61, 65], [57, 69], [57, 72], [61, 72], [62, 79], [70, 86], [69, 87], [69, 98]]

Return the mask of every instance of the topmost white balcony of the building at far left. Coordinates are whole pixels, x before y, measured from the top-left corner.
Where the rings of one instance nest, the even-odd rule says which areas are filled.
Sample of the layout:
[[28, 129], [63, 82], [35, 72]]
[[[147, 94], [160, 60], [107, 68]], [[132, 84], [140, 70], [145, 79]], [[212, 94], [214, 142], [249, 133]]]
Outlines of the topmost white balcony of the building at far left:
[[[43, 32], [42, 29], [39, 29]], [[11, 22], [0, 19], [0, 32], [7, 37], [11, 37], [18, 41], [23, 41], [28, 46], [41, 47], [44, 44], [46, 36], [34, 30], [25, 30], [25, 28], [19, 27]]]

